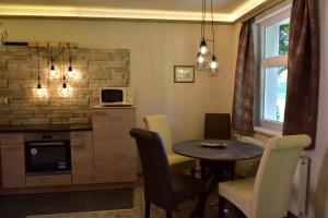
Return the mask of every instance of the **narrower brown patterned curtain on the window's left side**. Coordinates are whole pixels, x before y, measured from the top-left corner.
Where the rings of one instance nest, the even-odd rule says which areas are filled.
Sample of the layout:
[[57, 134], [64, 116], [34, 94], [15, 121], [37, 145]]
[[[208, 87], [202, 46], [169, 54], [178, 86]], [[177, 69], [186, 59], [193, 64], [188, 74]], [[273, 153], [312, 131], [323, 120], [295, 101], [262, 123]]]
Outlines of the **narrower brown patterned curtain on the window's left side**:
[[239, 134], [250, 134], [254, 131], [255, 58], [251, 25], [251, 21], [243, 23], [238, 43], [232, 123]]

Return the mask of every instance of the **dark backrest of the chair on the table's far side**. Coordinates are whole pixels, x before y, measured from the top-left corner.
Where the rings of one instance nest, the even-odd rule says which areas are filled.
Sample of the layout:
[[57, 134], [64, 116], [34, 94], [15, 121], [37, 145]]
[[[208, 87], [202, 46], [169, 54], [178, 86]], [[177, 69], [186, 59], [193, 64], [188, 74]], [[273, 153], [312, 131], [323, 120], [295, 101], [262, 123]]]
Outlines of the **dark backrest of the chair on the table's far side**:
[[231, 138], [230, 114], [229, 113], [206, 113], [204, 138]]

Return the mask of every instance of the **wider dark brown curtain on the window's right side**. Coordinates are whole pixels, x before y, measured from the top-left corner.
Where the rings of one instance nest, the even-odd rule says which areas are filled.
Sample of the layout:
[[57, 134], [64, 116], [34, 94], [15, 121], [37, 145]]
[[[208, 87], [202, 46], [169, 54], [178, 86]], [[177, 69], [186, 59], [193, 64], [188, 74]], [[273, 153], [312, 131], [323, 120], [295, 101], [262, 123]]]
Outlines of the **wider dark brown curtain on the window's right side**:
[[294, 0], [291, 14], [289, 75], [283, 134], [308, 134], [314, 148], [319, 92], [315, 0]]

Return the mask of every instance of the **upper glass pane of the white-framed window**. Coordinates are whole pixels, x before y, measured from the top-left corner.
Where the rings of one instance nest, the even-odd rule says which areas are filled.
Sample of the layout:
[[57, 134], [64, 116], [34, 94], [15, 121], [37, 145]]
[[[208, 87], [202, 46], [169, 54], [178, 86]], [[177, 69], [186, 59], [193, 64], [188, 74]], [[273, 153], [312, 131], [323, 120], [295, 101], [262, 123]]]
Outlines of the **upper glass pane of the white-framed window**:
[[288, 53], [290, 39], [290, 19], [284, 19], [265, 27], [265, 58]]

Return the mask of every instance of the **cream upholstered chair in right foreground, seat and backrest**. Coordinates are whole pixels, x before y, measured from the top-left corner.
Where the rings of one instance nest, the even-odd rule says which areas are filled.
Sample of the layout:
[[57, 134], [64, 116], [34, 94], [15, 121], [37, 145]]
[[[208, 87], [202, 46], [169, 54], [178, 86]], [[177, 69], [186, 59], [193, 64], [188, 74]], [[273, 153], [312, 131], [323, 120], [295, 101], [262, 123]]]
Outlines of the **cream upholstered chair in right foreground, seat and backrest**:
[[307, 135], [270, 138], [255, 178], [219, 183], [219, 217], [225, 199], [250, 218], [285, 217], [297, 161], [309, 144]]

